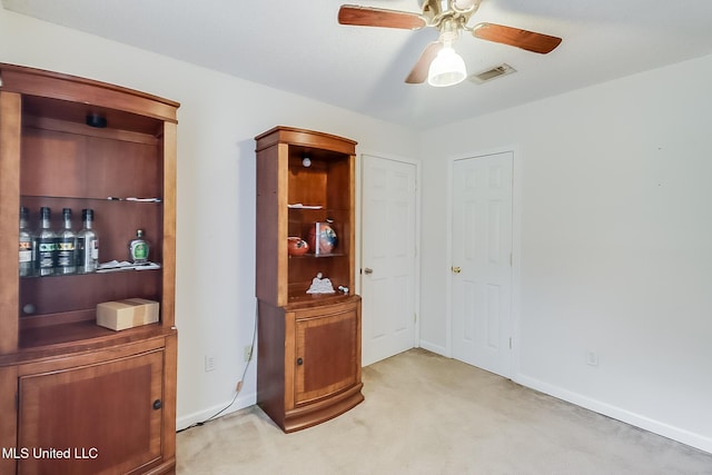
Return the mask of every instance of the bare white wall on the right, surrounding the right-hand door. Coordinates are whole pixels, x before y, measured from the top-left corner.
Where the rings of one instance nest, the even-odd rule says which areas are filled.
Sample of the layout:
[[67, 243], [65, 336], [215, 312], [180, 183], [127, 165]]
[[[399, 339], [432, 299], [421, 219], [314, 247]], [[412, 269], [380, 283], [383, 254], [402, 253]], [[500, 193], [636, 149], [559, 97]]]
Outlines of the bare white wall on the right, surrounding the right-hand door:
[[706, 57], [428, 130], [423, 345], [448, 352], [448, 161], [514, 146], [515, 378], [712, 452], [710, 85]]

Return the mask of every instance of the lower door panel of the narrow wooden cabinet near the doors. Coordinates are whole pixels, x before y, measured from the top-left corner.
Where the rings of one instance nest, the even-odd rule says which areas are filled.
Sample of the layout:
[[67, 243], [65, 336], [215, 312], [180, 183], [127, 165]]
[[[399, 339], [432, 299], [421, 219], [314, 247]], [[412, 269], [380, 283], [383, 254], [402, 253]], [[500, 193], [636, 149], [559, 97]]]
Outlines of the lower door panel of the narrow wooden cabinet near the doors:
[[342, 311], [299, 319], [295, 324], [297, 405], [326, 397], [358, 383], [358, 314]]

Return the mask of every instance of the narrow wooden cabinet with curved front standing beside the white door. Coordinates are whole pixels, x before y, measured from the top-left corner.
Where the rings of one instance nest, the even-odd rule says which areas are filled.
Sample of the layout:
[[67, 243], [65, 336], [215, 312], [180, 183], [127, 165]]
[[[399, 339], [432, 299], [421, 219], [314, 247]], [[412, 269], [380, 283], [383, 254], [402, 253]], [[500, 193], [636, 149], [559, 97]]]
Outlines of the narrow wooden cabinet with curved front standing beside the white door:
[[[364, 400], [354, 294], [356, 142], [289, 127], [255, 140], [257, 403], [293, 432]], [[309, 243], [309, 235], [316, 239], [306, 254], [288, 253], [288, 238]], [[314, 279], [328, 279], [335, 291], [307, 293]]]

